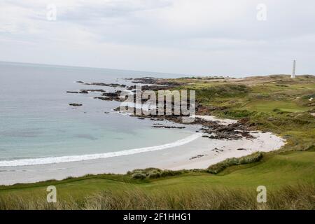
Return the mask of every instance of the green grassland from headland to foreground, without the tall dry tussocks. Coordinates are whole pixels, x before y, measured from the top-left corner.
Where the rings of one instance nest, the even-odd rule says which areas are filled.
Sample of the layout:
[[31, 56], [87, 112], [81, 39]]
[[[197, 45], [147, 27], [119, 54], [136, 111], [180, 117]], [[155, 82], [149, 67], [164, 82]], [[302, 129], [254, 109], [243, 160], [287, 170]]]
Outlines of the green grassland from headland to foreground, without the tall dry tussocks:
[[[124, 190], [144, 190], [148, 194], [230, 188], [255, 191], [260, 185], [277, 190], [298, 183], [315, 184], [315, 119], [310, 115], [314, 106], [309, 97], [315, 94], [315, 77], [290, 80], [287, 76], [245, 80], [183, 79], [186, 87], [197, 90], [197, 100], [203, 105], [225, 106], [211, 114], [225, 118], [251, 118], [255, 129], [272, 131], [288, 140], [280, 152], [267, 153], [260, 162], [229, 167], [217, 175], [190, 172], [180, 176], [137, 181], [127, 175], [98, 175], [64, 181], [0, 187], [0, 197], [45, 195], [45, 187], [55, 185], [61, 200], [83, 197], [101, 190], [120, 193]], [[193, 83], [193, 84], [192, 84]], [[314, 97], [315, 98], [315, 97]], [[272, 120], [268, 120], [268, 118]], [[308, 150], [308, 151], [306, 151]], [[294, 151], [294, 152], [288, 152]]]

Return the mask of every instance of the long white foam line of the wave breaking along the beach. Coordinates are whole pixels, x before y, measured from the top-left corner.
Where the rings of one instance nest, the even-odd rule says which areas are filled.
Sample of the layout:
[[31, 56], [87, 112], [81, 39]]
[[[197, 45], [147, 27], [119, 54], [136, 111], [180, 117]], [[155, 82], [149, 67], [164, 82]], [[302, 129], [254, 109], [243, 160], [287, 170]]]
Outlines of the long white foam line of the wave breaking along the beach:
[[28, 165], [44, 165], [52, 164], [59, 162], [78, 162], [83, 160], [96, 160], [103, 158], [111, 158], [122, 155], [132, 155], [137, 153], [146, 153], [150, 151], [159, 151], [166, 148], [173, 148], [176, 146], [183, 146], [188, 144], [190, 141], [194, 141], [201, 137], [200, 133], [192, 134], [185, 139], [180, 139], [174, 141], [170, 144], [164, 144], [160, 146], [151, 146], [145, 148], [134, 148], [125, 151], [110, 152], [110, 153], [96, 153], [96, 154], [87, 154], [87, 155], [68, 155], [68, 156], [59, 156], [59, 157], [48, 157], [48, 158], [34, 158], [34, 159], [22, 159], [22, 160], [3, 160], [0, 161], [0, 167], [18, 167], [18, 166], [28, 166]]

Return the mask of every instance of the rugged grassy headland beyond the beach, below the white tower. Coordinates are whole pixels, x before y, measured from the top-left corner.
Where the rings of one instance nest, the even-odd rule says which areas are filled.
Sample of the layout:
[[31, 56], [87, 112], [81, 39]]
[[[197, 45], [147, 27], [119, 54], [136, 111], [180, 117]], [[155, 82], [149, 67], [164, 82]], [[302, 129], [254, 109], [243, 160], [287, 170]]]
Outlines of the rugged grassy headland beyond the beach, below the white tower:
[[[190, 80], [192, 82], [192, 80]], [[197, 102], [226, 107], [211, 110], [222, 118], [250, 118], [253, 127], [288, 140], [286, 151], [307, 150], [315, 139], [315, 76], [265, 76], [225, 81], [195, 80]], [[309, 98], [314, 97], [312, 102]], [[272, 118], [272, 119], [270, 119]]]

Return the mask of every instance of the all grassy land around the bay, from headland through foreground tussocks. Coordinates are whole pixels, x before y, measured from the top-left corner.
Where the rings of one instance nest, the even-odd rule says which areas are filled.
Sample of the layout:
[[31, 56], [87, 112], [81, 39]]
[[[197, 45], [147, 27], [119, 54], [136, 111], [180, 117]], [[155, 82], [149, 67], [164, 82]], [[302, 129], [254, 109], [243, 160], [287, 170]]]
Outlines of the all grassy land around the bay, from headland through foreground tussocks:
[[[315, 209], [315, 76], [163, 82], [196, 90], [197, 114], [239, 120], [286, 145], [208, 169], [148, 168], [0, 186], [0, 209]], [[47, 186], [56, 186], [57, 203], [46, 202]], [[257, 202], [258, 186], [267, 188], [267, 203]]]

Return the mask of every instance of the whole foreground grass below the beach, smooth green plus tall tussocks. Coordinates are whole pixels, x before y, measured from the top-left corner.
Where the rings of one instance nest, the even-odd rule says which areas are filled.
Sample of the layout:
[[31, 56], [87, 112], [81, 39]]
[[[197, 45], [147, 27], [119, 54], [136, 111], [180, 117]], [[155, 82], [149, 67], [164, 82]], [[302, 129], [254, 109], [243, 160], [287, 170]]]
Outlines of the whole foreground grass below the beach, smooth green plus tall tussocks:
[[[0, 209], [315, 209], [314, 161], [315, 151], [266, 153], [218, 174], [101, 174], [1, 186]], [[256, 201], [261, 185], [267, 188], [262, 204]], [[57, 203], [46, 202], [47, 186], [56, 186]]]

